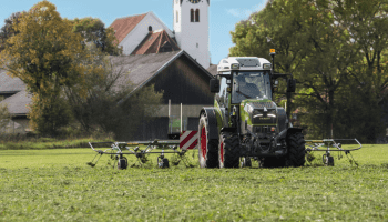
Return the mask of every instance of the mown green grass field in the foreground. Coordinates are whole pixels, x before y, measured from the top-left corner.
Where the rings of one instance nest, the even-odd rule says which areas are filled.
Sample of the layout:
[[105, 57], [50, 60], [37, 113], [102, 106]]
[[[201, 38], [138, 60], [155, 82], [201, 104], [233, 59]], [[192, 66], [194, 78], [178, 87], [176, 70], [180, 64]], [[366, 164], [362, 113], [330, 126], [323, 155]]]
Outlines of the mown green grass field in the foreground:
[[154, 155], [119, 171], [86, 165], [90, 149], [4, 150], [0, 221], [388, 221], [388, 145], [353, 155], [358, 168], [157, 169]]

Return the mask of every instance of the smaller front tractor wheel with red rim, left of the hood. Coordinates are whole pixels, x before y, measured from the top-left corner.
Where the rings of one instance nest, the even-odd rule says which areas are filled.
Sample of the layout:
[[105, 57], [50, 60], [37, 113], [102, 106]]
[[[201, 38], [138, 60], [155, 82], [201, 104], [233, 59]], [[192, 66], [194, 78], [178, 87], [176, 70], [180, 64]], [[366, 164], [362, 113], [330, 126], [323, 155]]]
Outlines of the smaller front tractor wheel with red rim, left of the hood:
[[221, 133], [218, 157], [219, 168], [239, 168], [238, 135]]

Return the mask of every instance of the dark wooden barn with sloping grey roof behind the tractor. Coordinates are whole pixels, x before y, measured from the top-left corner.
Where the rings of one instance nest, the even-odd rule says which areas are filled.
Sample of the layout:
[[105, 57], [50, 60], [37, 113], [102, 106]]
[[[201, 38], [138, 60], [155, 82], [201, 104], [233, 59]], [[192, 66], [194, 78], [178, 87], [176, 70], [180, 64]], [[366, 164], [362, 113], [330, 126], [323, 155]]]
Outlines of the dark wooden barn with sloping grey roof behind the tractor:
[[[162, 108], [154, 113], [153, 121], [141, 125], [136, 140], [167, 139], [169, 100], [171, 115], [175, 118], [180, 117], [182, 103], [184, 130], [197, 130], [200, 110], [214, 103], [208, 87], [213, 75], [183, 50], [115, 57], [113, 63], [130, 71], [127, 78], [134, 90], [127, 97], [150, 84], [154, 84], [155, 91], [164, 91]], [[125, 133], [119, 139], [125, 140]]]

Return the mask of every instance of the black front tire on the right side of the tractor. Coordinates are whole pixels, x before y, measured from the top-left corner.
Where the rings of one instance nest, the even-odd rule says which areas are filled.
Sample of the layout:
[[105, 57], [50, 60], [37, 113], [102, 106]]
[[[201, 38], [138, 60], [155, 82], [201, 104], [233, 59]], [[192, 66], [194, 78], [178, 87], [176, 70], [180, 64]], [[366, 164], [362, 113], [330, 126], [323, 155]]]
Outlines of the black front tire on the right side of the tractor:
[[305, 138], [302, 132], [296, 132], [287, 137], [288, 154], [286, 158], [287, 167], [303, 167], [306, 162]]

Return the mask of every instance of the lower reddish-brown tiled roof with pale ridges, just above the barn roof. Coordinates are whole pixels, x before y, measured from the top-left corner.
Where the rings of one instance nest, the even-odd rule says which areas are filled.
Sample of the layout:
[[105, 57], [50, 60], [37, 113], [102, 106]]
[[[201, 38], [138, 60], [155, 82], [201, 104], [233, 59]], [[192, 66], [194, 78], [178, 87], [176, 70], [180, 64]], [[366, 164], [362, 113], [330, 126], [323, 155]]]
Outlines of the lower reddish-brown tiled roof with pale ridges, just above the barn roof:
[[176, 42], [165, 30], [150, 32], [131, 54], [150, 54], [180, 51]]

